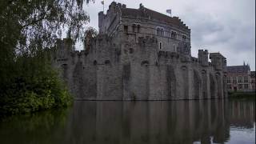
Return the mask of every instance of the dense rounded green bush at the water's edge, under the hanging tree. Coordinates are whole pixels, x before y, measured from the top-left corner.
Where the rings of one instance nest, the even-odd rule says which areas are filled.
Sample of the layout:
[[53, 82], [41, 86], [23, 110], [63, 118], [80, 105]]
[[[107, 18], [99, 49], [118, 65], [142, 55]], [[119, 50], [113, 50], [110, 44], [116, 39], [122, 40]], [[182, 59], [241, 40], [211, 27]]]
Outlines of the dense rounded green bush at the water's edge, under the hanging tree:
[[[18, 59], [15, 63], [18, 73], [1, 83], [0, 115], [24, 114], [71, 105], [72, 97], [57, 70], [44, 59], [38, 59]], [[24, 63], [25, 60], [27, 63]]]

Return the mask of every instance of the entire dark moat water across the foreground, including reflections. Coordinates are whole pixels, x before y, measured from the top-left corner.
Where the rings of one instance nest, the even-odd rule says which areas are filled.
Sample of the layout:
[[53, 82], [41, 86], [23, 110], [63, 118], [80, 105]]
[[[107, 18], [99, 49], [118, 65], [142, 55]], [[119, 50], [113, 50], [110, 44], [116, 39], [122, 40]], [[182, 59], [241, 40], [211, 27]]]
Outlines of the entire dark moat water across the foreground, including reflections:
[[255, 143], [254, 101], [76, 101], [0, 122], [0, 143]]

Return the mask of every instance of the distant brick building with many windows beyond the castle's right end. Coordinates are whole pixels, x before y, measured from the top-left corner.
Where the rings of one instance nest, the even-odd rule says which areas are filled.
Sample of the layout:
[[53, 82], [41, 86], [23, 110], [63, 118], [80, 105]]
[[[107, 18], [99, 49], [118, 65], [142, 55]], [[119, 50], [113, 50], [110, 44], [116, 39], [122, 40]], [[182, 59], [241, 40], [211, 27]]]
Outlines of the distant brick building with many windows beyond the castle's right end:
[[[251, 91], [250, 66], [227, 66], [227, 90], [228, 91]], [[255, 83], [255, 74], [254, 74]], [[254, 85], [255, 87], [255, 85]]]

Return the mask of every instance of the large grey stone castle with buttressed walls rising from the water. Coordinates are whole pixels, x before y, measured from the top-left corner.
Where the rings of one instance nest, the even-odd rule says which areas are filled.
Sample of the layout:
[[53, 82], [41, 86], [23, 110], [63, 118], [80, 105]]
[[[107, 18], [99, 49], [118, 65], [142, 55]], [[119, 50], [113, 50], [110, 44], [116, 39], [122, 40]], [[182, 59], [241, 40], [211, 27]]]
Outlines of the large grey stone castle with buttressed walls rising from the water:
[[178, 17], [112, 2], [85, 50], [63, 39], [52, 55], [75, 99], [225, 98], [226, 58], [208, 50], [194, 58], [190, 49], [190, 29]]

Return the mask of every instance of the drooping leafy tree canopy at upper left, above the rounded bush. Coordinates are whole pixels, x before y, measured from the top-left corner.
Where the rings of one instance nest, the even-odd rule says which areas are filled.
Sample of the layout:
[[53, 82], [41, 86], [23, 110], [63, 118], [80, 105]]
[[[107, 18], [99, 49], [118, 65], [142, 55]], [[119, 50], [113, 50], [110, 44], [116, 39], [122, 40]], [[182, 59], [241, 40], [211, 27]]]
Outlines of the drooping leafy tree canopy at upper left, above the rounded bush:
[[82, 38], [90, 18], [83, 4], [94, 0], [0, 1], [0, 78], [8, 78], [17, 55], [35, 55], [54, 46], [62, 31], [74, 41]]

